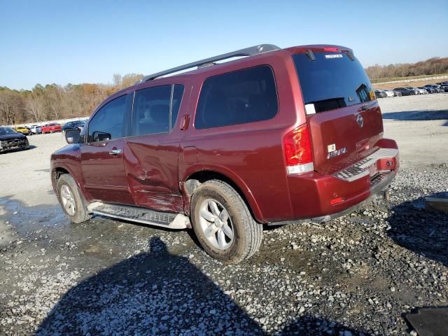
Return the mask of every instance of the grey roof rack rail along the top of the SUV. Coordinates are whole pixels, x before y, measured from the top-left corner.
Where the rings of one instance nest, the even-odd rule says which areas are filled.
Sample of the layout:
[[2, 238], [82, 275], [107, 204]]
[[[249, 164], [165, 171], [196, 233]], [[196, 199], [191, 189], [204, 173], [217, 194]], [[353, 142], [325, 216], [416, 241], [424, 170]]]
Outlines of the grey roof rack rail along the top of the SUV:
[[153, 80], [155, 78], [168, 75], [169, 73], [174, 73], [174, 72], [190, 69], [195, 66], [201, 67], [201, 66], [212, 65], [214, 62], [222, 61], [223, 59], [228, 59], [228, 58], [232, 58], [232, 57], [241, 57], [241, 56], [253, 56], [253, 55], [262, 54], [264, 52], [269, 52], [269, 51], [274, 51], [274, 50], [279, 50], [279, 49], [280, 49], [279, 47], [277, 47], [276, 45], [273, 45], [273, 44], [254, 45], [253, 47], [235, 50], [232, 52], [227, 52], [222, 55], [217, 55], [214, 57], [201, 59], [200, 61], [183, 64], [181, 66], [176, 66], [175, 68], [172, 68], [172, 69], [160, 71], [158, 73], [153, 73], [152, 75], [144, 76], [144, 78], [141, 78], [141, 80], [138, 80], [136, 84], [144, 83], [148, 80]]

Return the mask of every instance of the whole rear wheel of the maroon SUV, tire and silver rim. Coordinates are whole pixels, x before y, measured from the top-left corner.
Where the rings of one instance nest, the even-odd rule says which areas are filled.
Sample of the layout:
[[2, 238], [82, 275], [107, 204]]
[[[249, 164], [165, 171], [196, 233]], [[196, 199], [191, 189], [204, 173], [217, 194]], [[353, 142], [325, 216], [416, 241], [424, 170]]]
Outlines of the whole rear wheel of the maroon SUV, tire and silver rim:
[[211, 257], [236, 264], [260, 247], [262, 225], [256, 223], [239, 193], [219, 180], [203, 183], [191, 199], [193, 229]]

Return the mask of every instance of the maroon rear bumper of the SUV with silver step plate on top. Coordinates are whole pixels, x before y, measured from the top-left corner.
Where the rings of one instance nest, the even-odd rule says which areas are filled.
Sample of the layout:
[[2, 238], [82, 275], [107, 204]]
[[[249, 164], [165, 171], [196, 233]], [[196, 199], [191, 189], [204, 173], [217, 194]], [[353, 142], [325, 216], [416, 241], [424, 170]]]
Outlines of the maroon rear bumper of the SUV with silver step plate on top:
[[379, 148], [379, 151], [342, 172], [288, 176], [293, 218], [285, 218], [284, 221], [329, 221], [353, 211], [361, 202], [381, 193], [391, 184], [399, 167], [395, 141], [386, 144], [393, 146]]

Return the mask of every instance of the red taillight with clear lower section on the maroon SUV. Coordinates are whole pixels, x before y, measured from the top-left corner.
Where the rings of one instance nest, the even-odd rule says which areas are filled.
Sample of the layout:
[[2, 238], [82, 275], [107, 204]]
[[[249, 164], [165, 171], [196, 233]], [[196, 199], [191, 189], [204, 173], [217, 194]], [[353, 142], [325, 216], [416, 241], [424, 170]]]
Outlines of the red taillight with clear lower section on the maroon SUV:
[[307, 125], [286, 134], [283, 139], [288, 174], [304, 174], [314, 170], [311, 140]]

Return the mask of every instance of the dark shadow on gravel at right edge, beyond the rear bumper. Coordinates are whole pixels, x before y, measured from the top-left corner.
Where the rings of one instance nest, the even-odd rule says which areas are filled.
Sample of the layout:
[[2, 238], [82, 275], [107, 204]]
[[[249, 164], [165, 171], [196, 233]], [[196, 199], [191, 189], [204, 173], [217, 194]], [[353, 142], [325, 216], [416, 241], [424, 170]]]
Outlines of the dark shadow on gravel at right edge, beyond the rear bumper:
[[448, 266], [448, 214], [426, 211], [424, 197], [403, 202], [392, 211], [388, 235], [397, 244]]

